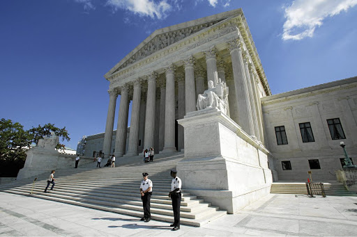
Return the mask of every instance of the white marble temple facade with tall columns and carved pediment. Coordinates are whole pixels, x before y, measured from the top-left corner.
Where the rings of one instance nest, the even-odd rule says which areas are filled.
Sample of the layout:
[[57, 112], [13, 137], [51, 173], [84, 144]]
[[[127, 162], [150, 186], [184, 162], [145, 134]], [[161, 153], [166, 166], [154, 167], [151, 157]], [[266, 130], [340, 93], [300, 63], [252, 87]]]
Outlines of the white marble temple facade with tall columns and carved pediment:
[[105, 74], [110, 85], [102, 152], [109, 156], [115, 151], [120, 157], [148, 147], [162, 153], [184, 149], [183, 127], [176, 120], [197, 110], [197, 95], [214, 81], [215, 72], [230, 87], [229, 117], [264, 143], [259, 105], [271, 90], [243, 12], [237, 9], [161, 28]]

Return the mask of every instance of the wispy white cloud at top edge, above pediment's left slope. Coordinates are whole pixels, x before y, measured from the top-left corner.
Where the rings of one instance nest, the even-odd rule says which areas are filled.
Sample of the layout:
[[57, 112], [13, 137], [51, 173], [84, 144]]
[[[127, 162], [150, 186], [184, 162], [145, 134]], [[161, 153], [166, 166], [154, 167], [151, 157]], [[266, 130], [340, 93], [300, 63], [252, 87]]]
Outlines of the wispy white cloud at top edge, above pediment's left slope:
[[124, 9], [139, 16], [149, 16], [158, 19], [165, 18], [172, 6], [166, 0], [155, 2], [153, 0], [107, 0], [107, 5], [114, 10]]

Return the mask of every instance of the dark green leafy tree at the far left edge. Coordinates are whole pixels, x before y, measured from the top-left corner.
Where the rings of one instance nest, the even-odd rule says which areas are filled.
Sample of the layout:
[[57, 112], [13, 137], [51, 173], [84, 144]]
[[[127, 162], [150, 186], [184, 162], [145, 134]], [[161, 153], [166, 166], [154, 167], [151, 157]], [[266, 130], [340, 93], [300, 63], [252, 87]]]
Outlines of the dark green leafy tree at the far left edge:
[[[69, 141], [66, 127], [59, 129], [54, 124], [38, 125], [36, 128], [24, 130], [20, 123], [11, 120], [0, 120], [0, 177], [16, 177], [17, 172], [24, 167], [26, 150], [32, 143], [38, 142], [43, 136], [50, 136], [54, 131], [61, 141]], [[59, 143], [56, 149], [63, 149], [64, 145]]]

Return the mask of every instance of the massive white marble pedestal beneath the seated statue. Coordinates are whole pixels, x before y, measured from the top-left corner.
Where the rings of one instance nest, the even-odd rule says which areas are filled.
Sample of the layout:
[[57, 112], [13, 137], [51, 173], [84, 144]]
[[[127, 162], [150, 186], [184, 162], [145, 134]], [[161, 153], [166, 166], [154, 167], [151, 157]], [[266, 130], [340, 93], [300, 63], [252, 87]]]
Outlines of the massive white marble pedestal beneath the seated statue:
[[270, 152], [218, 108], [178, 122], [185, 133], [185, 158], [177, 165], [184, 190], [228, 213], [270, 193]]

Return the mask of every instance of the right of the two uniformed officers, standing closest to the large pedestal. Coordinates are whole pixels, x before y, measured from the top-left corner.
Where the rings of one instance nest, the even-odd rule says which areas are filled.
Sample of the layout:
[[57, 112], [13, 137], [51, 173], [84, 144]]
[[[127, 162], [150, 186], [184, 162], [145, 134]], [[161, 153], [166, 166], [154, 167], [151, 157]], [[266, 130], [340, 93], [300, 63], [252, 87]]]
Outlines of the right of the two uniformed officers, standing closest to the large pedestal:
[[180, 229], [180, 206], [181, 206], [181, 179], [177, 177], [176, 169], [171, 170], [171, 192], [169, 197], [172, 199], [172, 210], [174, 211], [174, 224], [170, 224], [170, 227], [174, 227], [172, 230], [177, 231]]

